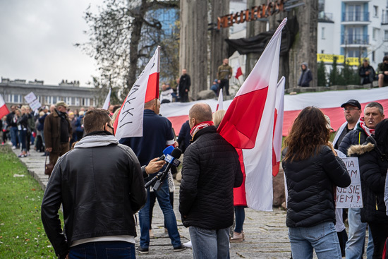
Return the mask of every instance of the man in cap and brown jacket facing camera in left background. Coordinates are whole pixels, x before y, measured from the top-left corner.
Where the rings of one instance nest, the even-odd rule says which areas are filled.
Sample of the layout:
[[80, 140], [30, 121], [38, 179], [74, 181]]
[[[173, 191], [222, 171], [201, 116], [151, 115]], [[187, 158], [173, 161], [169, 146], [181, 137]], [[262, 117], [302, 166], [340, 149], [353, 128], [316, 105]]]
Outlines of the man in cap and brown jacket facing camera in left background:
[[46, 151], [50, 153], [50, 164], [70, 149], [71, 124], [66, 113], [66, 102], [55, 104], [54, 112], [44, 119], [44, 141]]

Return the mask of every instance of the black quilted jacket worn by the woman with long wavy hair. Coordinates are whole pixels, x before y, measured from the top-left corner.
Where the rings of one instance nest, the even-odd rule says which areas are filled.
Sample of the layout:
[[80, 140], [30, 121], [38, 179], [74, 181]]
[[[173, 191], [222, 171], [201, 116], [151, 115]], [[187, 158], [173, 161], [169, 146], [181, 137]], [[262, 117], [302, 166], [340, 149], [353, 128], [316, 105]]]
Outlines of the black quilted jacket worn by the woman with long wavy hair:
[[283, 160], [289, 193], [287, 227], [313, 227], [322, 222], [336, 222], [335, 186], [349, 186], [351, 177], [342, 159], [334, 156], [330, 147], [321, 145], [319, 148], [317, 155], [309, 159]]

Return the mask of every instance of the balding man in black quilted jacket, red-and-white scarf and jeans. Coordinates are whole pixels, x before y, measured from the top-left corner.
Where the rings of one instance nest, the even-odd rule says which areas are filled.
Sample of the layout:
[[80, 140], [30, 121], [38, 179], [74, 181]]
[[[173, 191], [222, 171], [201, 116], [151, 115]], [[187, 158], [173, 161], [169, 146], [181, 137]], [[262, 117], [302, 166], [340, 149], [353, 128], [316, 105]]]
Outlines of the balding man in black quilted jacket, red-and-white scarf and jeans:
[[193, 105], [188, 117], [193, 143], [183, 157], [179, 212], [194, 258], [229, 258], [233, 188], [243, 183], [238, 155], [217, 133], [208, 104]]

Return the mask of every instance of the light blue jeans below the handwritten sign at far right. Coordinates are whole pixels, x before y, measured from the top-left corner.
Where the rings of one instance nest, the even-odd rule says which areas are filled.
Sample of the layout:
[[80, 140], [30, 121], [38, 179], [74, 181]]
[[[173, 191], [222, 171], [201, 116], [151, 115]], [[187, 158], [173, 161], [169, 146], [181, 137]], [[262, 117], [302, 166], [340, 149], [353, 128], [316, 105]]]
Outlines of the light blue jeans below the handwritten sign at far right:
[[[346, 242], [346, 259], [363, 258], [363, 248], [365, 244], [366, 223], [361, 222], [361, 209], [359, 207], [349, 208], [348, 210], [348, 241]], [[372, 259], [373, 240], [369, 231], [368, 248], [366, 256]]]

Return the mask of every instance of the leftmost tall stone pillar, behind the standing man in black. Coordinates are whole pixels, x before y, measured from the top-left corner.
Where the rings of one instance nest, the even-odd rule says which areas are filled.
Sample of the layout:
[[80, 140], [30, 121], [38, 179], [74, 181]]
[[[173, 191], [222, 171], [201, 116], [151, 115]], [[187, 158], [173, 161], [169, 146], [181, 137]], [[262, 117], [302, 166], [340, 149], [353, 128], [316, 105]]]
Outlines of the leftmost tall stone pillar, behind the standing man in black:
[[181, 0], [179, 68], [191, 78], [189, 97], [207, 89], [207, 0]]

